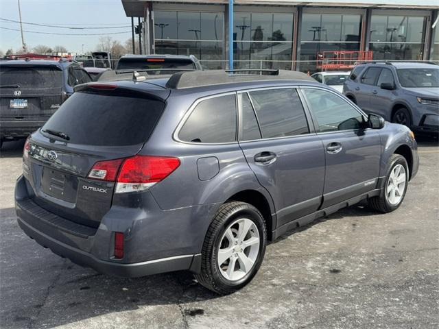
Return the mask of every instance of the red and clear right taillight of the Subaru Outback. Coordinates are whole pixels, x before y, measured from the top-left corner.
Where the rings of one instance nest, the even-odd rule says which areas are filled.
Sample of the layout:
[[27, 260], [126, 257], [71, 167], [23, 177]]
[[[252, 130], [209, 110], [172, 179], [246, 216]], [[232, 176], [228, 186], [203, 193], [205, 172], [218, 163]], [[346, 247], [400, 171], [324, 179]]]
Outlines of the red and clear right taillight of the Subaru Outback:
[[116, 182], [115, 193], [126, 193], [146, 190], [167, 178], [178, 167], [180, 167], [178, 158], [133, 156], [125, 160], [96, 162], [88, 177]]

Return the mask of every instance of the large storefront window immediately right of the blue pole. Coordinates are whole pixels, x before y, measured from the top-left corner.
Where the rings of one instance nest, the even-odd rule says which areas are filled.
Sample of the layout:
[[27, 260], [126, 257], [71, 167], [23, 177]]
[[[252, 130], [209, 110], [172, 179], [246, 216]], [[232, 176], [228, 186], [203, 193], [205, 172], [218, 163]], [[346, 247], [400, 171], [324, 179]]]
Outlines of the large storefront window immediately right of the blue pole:
[[293, 14], [235, 12], [236, 69], [292, 69]]

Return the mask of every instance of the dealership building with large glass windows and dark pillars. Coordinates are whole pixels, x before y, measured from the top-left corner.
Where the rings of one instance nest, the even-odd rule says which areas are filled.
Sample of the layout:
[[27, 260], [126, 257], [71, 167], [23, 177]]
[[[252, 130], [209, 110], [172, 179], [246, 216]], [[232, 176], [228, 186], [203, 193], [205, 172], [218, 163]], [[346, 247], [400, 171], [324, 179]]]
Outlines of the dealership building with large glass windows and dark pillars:
[[121, 1], [133, 36], [141, 27], [142, 53], [193, 54], [210, 69], [230, 58], [235, 69], [304, 72], [357, 60], [439, 62], [438, 0], [235, 0], [233, 12], [221, 0]]

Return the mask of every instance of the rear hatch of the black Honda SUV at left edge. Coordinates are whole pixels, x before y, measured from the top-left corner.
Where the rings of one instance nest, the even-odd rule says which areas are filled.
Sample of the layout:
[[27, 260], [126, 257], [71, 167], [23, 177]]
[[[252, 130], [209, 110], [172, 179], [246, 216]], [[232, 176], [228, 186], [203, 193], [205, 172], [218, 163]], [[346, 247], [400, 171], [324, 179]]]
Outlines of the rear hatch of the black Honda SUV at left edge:
[[2, 121], [45, 121], [62, 103], [62, 70], [54, 65], [0, 65]]

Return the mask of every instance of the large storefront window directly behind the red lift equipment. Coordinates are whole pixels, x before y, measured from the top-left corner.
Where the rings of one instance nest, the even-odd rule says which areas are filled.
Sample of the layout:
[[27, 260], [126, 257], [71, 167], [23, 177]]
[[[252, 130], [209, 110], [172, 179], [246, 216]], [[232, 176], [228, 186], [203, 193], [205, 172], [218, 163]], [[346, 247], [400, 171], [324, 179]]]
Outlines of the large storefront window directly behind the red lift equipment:
[[358, 51], [360, 35], [361, 15], [303, 14], [298, 69], [316, 72], [322, 51]]

